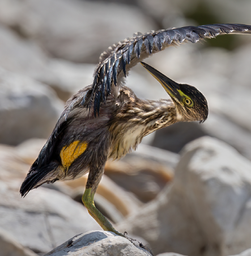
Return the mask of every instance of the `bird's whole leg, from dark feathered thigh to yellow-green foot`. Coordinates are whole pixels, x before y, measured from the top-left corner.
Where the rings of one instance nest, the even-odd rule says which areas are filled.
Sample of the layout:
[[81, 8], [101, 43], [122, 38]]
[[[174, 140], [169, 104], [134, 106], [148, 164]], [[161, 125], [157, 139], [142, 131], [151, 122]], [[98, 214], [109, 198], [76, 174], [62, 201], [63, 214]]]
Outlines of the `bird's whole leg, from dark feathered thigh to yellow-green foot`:
[[107, 218], [95, 207], [93, 202], [93, 198], [97, 189], [97, 185], [99, 184], [101, 177], [104, 173], [104, 166], [102, 166], [101, 170], [95, 167], [90, 168], [90, 173], [88, 175], [86, 190], [82, 196], [82, 202], [84, 206], [87, 208], [90, 215], [97, 221], [97, 223], [106, 231], [111, 231], [119, 236], [126, 237], [124, 234], [121, 234], [116, 229], [114, 229], [113, 225], [107, 220]]

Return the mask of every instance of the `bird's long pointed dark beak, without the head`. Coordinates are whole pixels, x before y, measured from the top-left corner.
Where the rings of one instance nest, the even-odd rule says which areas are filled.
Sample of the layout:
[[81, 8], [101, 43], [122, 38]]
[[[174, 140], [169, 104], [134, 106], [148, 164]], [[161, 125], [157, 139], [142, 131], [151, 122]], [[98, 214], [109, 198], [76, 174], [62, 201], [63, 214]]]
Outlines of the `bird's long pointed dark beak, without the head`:
[[146, 70], [157, 79], [161, 85], [164, 87], [165, 91], [172, 97], [181, 101], [180, 85], [173, 81], [172, 79], [166, 77], [164, 74], [160, 73], [158, 70], [152, 68], [152, 66], [141, 62], [142, 66], [146, 68]]

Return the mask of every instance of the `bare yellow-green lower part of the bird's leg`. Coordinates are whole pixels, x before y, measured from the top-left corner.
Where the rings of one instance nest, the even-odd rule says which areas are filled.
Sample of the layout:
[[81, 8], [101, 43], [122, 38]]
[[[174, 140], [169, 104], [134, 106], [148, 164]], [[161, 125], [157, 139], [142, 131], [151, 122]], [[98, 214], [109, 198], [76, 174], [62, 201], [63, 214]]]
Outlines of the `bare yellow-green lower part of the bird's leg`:
[[87, 208], [90, 215], [99, 223], [101, 228], [106, 231], [111, 231], [119, 236], [126, 237], [124, 234], [121, 234], [116, 229], [113, 228], [113, 225], [107, 220], [107, 218], [95, 207], [93, 202], [95, 192], [92, 191], [92, 188], [86, 188], [84, 194], [82, 196], [82, 202], [84, 206]]

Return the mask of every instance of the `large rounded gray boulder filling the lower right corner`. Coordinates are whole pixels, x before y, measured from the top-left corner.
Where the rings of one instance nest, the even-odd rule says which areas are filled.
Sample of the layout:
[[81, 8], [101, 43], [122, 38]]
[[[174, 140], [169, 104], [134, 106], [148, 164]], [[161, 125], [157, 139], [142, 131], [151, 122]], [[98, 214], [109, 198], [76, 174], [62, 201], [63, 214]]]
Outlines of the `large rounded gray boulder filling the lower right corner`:
[[203, 137], [182, 151], [173, 186], [117, 226], [142, 236], [154, 253], [229, 255], [250, 247], [251, 163]]

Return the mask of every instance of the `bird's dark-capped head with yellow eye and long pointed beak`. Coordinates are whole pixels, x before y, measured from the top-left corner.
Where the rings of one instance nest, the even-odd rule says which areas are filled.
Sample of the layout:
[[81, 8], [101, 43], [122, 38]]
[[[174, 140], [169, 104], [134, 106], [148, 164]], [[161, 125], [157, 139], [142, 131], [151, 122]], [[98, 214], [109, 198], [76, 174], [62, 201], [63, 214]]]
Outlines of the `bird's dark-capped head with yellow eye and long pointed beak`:
[[176, 83], [144, 62], [141, 64], [167, 91], [177, 108], [177, 114], [180, 115], [181, 121], [202, 123], [207, 119], [209, 108], [205, 96], [200, 91], [191, 85]]

